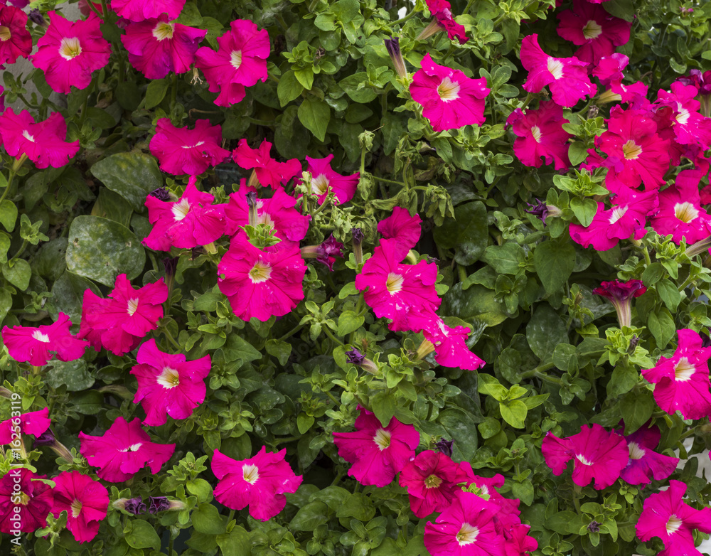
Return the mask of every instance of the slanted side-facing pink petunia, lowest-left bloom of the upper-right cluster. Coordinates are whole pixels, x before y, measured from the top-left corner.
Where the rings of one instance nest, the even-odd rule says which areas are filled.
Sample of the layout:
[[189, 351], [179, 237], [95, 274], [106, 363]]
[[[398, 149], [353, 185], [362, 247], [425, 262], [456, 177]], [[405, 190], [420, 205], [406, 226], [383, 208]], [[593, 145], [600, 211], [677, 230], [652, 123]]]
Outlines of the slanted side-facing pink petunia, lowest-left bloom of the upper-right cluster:
[[598, 251], [612, 249], [620, 240], [630, 237], [641, 239], [646, 233], [647, 215], [653, 213], [657, 205], [656, 191], [621, 191], [612, 200], [612, 208], [605, 210], [603, 203], [597, 203], [597, 213], [587, 228], [570, 224], [570, 237], [579, 245], [592, 245]]

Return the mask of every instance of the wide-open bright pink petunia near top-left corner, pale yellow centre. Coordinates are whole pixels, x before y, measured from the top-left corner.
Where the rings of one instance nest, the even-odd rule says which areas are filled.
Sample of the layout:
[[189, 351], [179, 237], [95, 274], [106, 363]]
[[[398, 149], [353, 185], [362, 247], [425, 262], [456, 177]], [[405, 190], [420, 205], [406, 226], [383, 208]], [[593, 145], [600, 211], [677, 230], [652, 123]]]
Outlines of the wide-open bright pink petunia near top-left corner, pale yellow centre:
[[101, 19], [91, 14], [85, 20], [68, 21], [49, 12], [50, 25], [30, 56], [35, 68], [44, 70], [47, 83], [56, 92], [70, 93], [72, 86], [86, 89], [91, 74], [109, 63], [111, 45], [101, 34]]

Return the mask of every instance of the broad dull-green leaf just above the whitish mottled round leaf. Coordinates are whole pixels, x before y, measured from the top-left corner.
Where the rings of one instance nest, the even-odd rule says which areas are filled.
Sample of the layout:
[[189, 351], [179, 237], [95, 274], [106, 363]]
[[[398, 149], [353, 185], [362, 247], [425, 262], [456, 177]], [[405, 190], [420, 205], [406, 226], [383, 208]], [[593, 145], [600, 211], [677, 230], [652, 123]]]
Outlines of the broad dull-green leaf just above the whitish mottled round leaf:
[[144, 210], [146, 196], [163, 185], [156, 159], [139, 152], [113, 154], [94, 164], [91, 173], [139, 213]]

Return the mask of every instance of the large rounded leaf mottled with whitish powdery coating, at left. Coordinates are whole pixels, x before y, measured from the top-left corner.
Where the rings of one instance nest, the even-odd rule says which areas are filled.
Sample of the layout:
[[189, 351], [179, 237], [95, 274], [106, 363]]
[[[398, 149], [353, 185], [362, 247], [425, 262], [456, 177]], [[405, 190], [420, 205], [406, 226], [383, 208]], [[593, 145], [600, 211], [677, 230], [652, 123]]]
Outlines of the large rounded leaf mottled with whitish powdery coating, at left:
[[113, 220], [77, 216], [69, 228], [67, 268], [105, 286], [113, 286], [119, 274], [137, 277], [146, 252], [134, 233]]

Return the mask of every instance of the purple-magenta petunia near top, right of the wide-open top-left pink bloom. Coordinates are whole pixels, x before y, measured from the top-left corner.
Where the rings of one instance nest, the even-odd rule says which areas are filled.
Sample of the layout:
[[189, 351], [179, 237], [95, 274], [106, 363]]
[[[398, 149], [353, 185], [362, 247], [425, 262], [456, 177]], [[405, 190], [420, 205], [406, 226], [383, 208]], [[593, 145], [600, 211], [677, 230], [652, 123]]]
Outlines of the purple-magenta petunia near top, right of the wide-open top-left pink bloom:
[[186, 73], [195, 61], [207, 31], [169, 21], [165, 14], [129, 23], [121, 42], [129, 62], [149, 79], [163, 79], [171, 72]]

